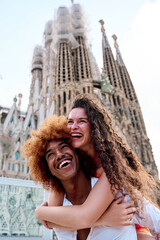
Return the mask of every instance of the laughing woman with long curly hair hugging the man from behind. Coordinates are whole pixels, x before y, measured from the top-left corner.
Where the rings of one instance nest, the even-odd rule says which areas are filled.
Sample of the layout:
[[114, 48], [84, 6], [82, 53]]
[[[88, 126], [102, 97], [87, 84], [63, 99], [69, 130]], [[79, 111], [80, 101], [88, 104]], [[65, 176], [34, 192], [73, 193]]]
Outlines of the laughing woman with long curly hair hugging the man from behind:
[[[145, 214], [149, 211], [147, 226], [159, 233], [160, 211], [144, 199], [154, 196], [156, 184], [133, 151], [115, 133], [105, 108], [92, 96], [79, 95], [72, 105], [68, 128], [71, 131], [73, 147], [93, 159], [96, 165], [95, 175], [101, 176], [82, 205], [48, 207], [45, 212], [42, 206], [40, 214], [45, 220], [65, 227], [72, 226], [74, 229], [90, 227], [115, 197], [129, 195], [135, 205], [142, 208], [139, 210], [142, 216], [137, 217], [138, 223], [146, 225]], [[49, 218], [47, 214], [51, 214]], [[129, 216], [132, 218], [132, 215]], [[157, 217], [157, 220], [152, 217]], [[152, 220], [157, 222], [153, 223]], [[131, 223], [132, 220], [129, 221], [129, 224]]]

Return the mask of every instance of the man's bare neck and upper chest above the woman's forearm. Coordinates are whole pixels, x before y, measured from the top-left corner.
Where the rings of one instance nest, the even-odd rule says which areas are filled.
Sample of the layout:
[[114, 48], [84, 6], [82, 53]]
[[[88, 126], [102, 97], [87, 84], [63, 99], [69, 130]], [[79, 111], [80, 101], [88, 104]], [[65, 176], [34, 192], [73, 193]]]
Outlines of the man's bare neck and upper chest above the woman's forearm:
[[82, 204], [91, 190], [91, 181], [86, 178], [81, 170], [71, 179], [62, 181], [62, 185], [66, 193], [66, 198], [73, 205]]

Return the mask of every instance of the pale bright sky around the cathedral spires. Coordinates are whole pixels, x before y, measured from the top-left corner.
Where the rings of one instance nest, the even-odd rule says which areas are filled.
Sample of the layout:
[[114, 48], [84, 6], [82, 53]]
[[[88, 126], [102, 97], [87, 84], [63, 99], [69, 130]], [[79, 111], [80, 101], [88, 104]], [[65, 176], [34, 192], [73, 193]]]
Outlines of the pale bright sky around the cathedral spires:
[[[74, 0], [82, 5], [88, 42], [103, 67], [99, 20], [105, 22], [113, 54], [112, 35], [135, 87], [148, 137], [160, 173], [160, 0]], [[23, 94], [27, 109], [34, 47], [43, 45], [44, 27], [59, 6], [70, 0], [0, 0], [0, 105], [11, 107]]]

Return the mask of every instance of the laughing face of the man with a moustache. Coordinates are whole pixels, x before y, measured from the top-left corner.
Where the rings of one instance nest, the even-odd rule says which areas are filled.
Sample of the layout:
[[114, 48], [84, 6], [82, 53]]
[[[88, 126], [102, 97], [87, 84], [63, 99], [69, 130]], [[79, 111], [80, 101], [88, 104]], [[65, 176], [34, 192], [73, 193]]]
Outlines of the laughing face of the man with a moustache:
[[50, 141], [45, 158], [53, 176], [60, 180], [68, 180], [79, 170], [78, 157], [64, 140]]

